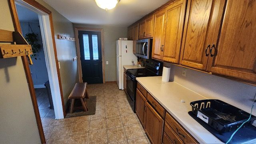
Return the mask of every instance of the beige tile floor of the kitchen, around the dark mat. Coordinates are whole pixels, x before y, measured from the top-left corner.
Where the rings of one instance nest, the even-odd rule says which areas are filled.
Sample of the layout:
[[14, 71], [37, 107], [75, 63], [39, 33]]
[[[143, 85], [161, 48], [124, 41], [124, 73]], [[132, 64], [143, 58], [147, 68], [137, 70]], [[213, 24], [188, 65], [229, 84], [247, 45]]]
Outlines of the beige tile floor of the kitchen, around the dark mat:
[[58, 144], [148, 144], [138, 117], [126, 94], [115, 83], [88, 85], [90, 96], [97, 96], [96, 114], [55, 120], [44, 117], [47, 143]]

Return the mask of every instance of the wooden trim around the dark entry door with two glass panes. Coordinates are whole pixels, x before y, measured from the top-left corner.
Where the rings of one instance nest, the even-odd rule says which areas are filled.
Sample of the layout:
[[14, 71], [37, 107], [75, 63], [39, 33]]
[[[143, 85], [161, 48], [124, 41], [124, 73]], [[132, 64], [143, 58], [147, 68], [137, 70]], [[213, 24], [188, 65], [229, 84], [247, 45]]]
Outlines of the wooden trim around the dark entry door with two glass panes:
[[80, 44], [78, 39], [78, 31], [93, 31], [93, 32], [100, 32], [101, 37], [101, 59], [102, 59], [102, 80], [105, 83], [105, 47], [104, 47], [104, 30], [103, 28], [84, 28], [84, 27], [74, 27], [75, 31], [75, 38], [76, 38], [76, 55], [77, 55], [77, 66], [78, 66], [78, 76], [79, 82], [83, 82], [82, 79], [82, 64], [81, 64], [81, 55], [80, 55]]

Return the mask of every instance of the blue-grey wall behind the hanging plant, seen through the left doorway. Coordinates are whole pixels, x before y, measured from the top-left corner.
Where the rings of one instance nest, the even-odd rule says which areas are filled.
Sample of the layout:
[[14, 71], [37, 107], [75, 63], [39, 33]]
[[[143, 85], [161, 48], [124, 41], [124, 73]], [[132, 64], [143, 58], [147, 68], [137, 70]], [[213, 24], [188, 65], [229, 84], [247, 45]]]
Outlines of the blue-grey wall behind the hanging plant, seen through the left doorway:
[[[19, 13], [19, 11], [18, 11]], [[46, 62], [44, 57], [44, 48], [42, 43], [42, 36], [40, 32], [39, 22], [20, 22], [20, 26], [22, 28], [22, 34], [25, 35], [28, 33], [28, 24], [32, 28], [33, 32], [37, 34], [38, 44], [40, 44], [41, 49], [36, 53], [36, 56], [33, 58], [33, 65], [30, 65], [31, 76], [33, 79], [34, 87], [44, 86], [44, 83], [48, 81], [48, 73], [46, 68]], [[30, 30], [30, 33], [31, 30]], [[35, 59], [36, 58], [36, 59]]]

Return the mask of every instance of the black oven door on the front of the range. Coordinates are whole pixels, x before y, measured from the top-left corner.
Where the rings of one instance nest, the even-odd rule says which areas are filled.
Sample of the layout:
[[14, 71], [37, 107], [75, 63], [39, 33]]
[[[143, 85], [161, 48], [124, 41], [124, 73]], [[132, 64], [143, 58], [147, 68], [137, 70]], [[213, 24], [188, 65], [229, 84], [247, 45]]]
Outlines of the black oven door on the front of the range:
[[126, 88], [128, 94], [126, 95], [126, 97], [134, 112], [136, 104], [136, 87], [137, 81], [134, 78], [132, 78], [129, 74], [127, 74]]

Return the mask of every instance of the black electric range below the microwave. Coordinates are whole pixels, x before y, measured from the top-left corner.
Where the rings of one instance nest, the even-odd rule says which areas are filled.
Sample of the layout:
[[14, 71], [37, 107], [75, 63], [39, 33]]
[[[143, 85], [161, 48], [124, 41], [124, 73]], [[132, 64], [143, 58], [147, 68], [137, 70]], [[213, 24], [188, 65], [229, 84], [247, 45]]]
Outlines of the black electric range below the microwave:
[[157, 62], [155, 60], [146, 60], [145, 68], [130, 69], [126, 71], [126, 97], [132, 110], [135, 112], [136, 108], [136, 88], [137, 81], [136, 77], [146, 77], [146, 76], [162, 76], [163, 63]]

